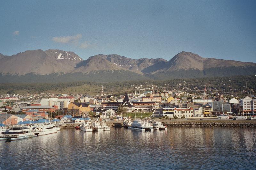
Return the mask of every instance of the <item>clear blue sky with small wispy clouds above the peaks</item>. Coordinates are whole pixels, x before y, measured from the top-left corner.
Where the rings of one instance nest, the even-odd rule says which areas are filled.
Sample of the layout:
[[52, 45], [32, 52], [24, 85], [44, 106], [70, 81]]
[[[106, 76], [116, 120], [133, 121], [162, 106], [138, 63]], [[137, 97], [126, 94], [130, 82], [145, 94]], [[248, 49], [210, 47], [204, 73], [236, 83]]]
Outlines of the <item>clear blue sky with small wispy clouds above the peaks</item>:
[[0, 53], [256, 59], [256, 1], [0, 1]]

